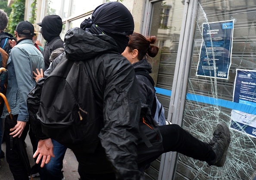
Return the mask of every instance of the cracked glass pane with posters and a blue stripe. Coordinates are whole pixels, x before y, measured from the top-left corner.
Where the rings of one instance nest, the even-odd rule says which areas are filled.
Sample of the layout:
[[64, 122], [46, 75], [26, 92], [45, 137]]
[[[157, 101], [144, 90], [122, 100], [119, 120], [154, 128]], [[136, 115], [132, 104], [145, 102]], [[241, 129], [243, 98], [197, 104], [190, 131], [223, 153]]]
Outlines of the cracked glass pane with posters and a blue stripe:
[[[214, 73], [209, 76], [197, 76], [197, 66], [200, 60], [201, 44], [203, 40], [203, 24], [219, 22], [234, 22], [233, 48], [231, 52], [231, 66], [227, 70], [227, 78], [216, 78], [217, 53], [215, 43], [204, 43], [213, 58]], [[206, 26], [207, 27], [207, 26]], [[228, 27], [228, 26], [226, 26]], [[224, 31], [223, 29], [221, 31]], [[214, 32], [209, 31], [209, 32]], [[226, 31], [225, 31], [226, 32]], [[225, 34], [225, 37], [228, 36]], [[214, 40], [214, 35], [212, 35]], [[211, 40], [211, 42], [212, 42]], [[227, 41], [224, 41], [228, 43]], [[227, 55], [227, 52], [223, 52]], [[210, 166], [179, 154], [175, 179], [191, 180], [249, 180], [255, 177], [256, 172], [256, 128], [247, 131], [251, 124], [256, 123], [255, 85], [244, 85], [239, 82], [243, 90], [250, 89], [243, 100], [233, 102], [233, 94], [238, 92], [240, 97], [243, 91], [235, 90], [235, 81], [238, 78], [237, 70], [244, 73], [245, 78], [254, 78], [256, 70], [256, 1], [255, 0], [199, 0], [197, 8], [196, 27], [194, 34], [193, 55], [191, 57], [190, 77], [187, 86], [187, 100], [184, 110], [183, 128], [200, 140], [208, 141], [212, 138], [214, 128], [218, 122], [232, 125], [231, 143], [228, 148], [225, 165], [221, 168]], [[220, 55], [221, 57], [225, 55]], [[207, 58], [206, 58], [207, 59]], [[209, 60], [209, 57], [208, 57]], [[218, 62], [219, 63], [219, 62]], [[209, 63], [210, 64], [210, 63]], [[227, 66], [224, 64], [223, 66]], [[252, 72], [252, 73], [251, 73]], [[203, 73], [206, 73], [203, 71]], [[249, 73], [251, 73], [249, 75]], [[225, 74], [225, 73], [223, 73]], [[242, 83], [242, 84], [241, 84]], [[249, 82], [248, 82], [249, 83]], [[251, 82], [255, 83], [255, 82]], [[250, 101], [252, 99], [252, 101]], [[243, 100], [243, 101], [242, 101]], [[245, 102], [245, 103], [244, 103]], [[249, 120], [247, 120], [250, 118]], [[231, 124], [232, 121], [232, 124]], [[242, 123], [240, 123], [242, 122]], [[244, 124], [243, 124], [244, 123]], [[234, 127], [236, 130], [234, 130]], [[254, 126], [255, 127], [255, 126]]]

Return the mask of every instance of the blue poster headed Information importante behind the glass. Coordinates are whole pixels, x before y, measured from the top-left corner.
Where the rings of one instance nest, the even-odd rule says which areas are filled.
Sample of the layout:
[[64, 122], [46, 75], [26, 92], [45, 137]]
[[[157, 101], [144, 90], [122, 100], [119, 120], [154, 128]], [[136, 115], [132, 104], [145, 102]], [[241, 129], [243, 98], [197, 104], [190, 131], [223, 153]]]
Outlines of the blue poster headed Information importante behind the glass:
[[228, 79], [231, 66], [234, 20], [203, 23], [203, 40], [197, 76]]

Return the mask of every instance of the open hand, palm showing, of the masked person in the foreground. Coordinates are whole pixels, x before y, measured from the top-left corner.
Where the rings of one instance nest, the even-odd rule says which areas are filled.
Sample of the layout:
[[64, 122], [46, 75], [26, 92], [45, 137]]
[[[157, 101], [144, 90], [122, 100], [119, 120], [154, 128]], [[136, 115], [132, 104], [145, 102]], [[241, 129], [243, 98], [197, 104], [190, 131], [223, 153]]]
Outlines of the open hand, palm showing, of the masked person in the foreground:
[[37, 157], [37, 161], [36, 161], [37, 164], [40, 162], [41, 158], [43, 158], [41, 162], [41, 168], [44, 167], [44, 164], [47, 164], [48, 162], [50, 162], [51, 157], [53, 158], [55, 157], [53, 154], [53, 143], [50, 138], [38, 141], [37, 150], [33, 155], [33, 158], [36, 158], [36, 157]]

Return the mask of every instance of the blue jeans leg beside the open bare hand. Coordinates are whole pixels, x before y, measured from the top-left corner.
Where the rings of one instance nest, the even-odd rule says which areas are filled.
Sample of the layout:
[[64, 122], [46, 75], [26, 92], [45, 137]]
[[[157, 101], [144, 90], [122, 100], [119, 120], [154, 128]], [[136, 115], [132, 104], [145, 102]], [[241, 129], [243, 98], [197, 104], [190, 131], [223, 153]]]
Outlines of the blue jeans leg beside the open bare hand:
[[[53, 154], [55, 158], [51, 158], [48, 164], [44, 165], [44, 168], [39, 168], [39, 174], [41, 180], [61, 180], [62, 179], [62, 161], [64, 159], [67, 147], [53, 140]], [[40, 162], [41, 163], [41, 162]]]

